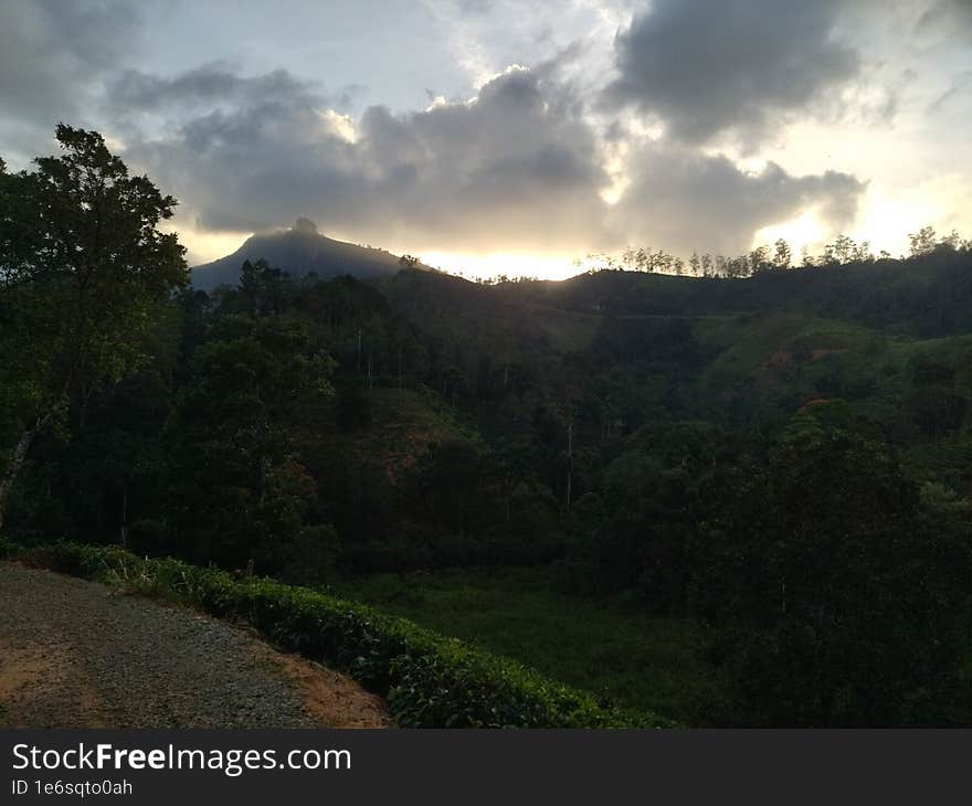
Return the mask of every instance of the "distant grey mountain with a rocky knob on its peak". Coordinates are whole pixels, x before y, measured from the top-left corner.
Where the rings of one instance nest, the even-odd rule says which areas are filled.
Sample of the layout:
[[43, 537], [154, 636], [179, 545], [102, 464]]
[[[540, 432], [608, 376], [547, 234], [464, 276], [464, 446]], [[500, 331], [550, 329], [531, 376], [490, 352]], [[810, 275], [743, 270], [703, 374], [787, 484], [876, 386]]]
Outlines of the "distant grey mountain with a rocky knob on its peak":
[[398, 255], [325, 237], [313, 221], [297, 219], [290, 230], [253, 235], [233, 254], [194, 266], [192, 285], [202, 290], [235, 285], [243, 262], [261, 258], [295, 277], [315, 273], [321, 279], [346, 274], [373, 279], [394, 275], [401, 268]]

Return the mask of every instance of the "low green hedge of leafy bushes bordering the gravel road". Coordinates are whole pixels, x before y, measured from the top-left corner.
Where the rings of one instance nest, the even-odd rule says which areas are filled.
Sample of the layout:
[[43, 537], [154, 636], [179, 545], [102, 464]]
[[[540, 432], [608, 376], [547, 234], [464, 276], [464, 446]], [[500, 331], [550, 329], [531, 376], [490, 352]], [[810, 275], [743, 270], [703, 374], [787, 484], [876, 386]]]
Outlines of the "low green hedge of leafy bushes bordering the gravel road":
[[602, 708], [583, 691], [367, 605], [274, 580], [237, 580], [179, 560], [140, 560], [76, 543], [29, 561], [178, 598], [255, 627], [284, 649], [348, 672], [388, 699], [409, 728], [667, 728], [667, 720]]

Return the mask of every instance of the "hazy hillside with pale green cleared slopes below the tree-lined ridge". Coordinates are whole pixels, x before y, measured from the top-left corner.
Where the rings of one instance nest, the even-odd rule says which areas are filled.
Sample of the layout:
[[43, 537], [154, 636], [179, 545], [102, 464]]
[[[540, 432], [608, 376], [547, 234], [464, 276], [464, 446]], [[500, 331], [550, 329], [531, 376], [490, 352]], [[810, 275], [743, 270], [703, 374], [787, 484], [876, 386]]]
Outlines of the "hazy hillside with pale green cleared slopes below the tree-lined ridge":
[[[577, 425], [595, 444], [606, 420], [628, 434], [672, 417], [746, 428], [833, 397], [900, 444], [972, 426], [966, 253], [747, 279], [605, 271], [483, 286], [401, 272], [377, 285], [484, 425], [507, 417], [507, 433], [563, 400], [582, 402]], [[965, 454], [926, 454], [972, 489]]]

